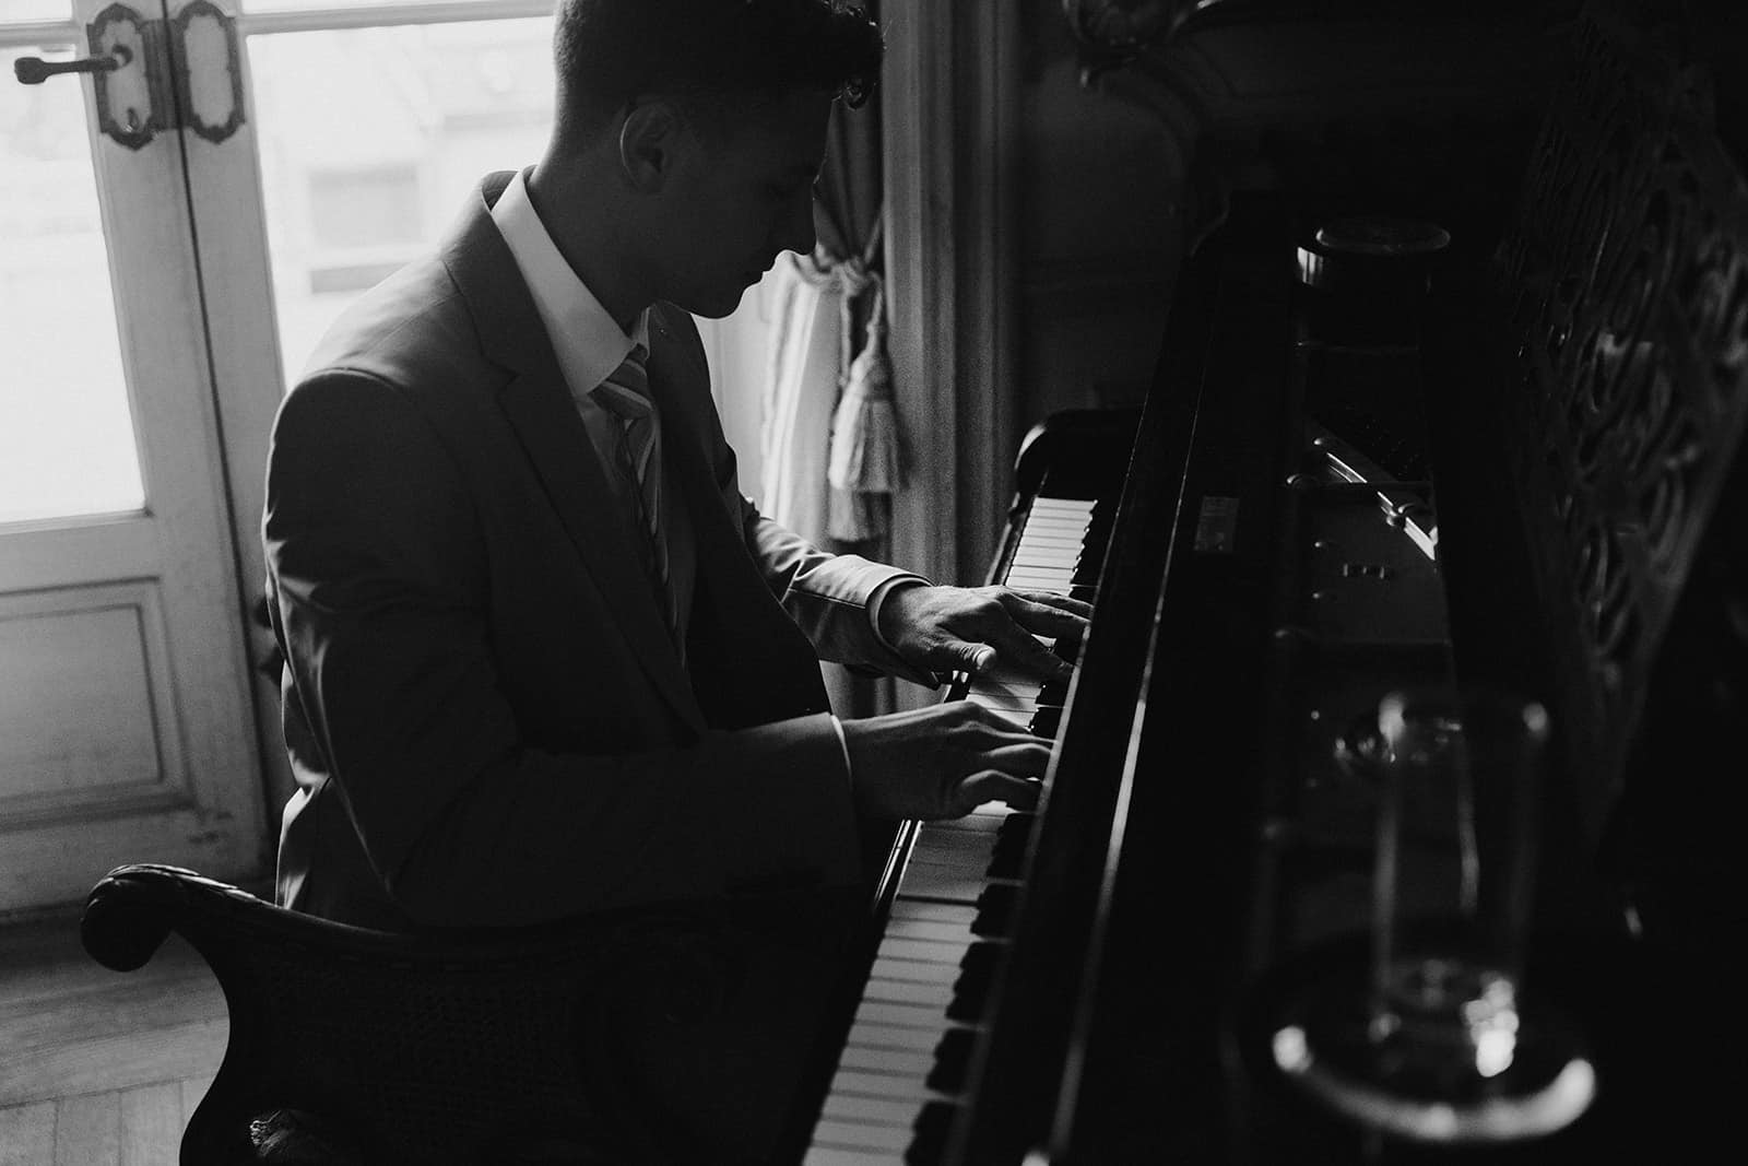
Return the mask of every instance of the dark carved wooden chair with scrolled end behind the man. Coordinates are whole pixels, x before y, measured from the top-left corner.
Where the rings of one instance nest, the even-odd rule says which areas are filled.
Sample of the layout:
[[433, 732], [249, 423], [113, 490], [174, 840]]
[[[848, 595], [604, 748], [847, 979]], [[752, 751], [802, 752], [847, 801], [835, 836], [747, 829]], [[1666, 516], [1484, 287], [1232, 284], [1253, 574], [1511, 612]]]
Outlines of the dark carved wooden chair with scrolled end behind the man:
[[231, 1016], [184, 1166], [706, 1161], [626, 1072], [633, 1033], [706, 1017], [736, 982], [706, 911], [399, 935], [133, 864], [80, 920], [86, 951], [122, 972], [170, 932]]

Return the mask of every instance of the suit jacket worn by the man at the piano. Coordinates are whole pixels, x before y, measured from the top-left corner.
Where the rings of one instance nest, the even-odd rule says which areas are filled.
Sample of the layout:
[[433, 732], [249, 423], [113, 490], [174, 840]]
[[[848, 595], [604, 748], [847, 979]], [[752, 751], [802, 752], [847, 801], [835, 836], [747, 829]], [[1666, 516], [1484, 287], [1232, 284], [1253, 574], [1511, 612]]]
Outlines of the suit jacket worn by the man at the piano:
[[865, 614], [898, 572], [757, 514], [697, 330], [657, 304], [650, 393], [697, 545], [682, 668], [491, 222], [509, 177], [346, 313], [274, 421], [262, 533], [299, 783], [280, 900], [400, 930], [850, 883], [818, 657], [914, 675]]

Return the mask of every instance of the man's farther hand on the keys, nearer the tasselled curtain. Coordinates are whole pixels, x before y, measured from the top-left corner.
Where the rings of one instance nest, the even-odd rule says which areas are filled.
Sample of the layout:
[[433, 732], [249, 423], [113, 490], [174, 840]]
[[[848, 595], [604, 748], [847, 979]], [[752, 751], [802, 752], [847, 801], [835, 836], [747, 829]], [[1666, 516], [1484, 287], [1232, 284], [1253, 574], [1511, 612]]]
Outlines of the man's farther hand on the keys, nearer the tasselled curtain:
[[1049, 591], [1007, 587], [895, 587], [879, 608], [879, 633], [918, 668], [989, 671], [1007, 664], [1038, 680], [1063, 680], [1068, 661], [1035, 636], [1080, 636], [1092, 605]]

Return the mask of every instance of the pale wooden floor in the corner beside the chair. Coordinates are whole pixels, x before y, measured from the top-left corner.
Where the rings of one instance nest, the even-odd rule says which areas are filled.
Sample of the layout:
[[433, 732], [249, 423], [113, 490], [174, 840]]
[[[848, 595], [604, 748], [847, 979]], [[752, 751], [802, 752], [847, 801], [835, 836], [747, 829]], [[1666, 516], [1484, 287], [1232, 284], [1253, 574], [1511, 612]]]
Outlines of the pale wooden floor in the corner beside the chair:
[[0, 928], [0, 1166], [175, 1166], [225, 1030], [218, 982], [177, 935], [112, 972], [75, 918]]

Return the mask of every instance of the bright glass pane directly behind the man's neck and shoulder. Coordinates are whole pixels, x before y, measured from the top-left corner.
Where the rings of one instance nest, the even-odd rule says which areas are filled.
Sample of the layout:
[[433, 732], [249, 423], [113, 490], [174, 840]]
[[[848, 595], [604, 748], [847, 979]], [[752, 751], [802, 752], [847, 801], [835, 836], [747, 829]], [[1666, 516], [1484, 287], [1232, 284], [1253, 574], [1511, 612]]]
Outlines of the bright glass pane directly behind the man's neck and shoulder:
[[479, 178], [540, 157], [551, 40], [547, 17], [248, 38], [287, 383], [346, 304], [435, 246]]

